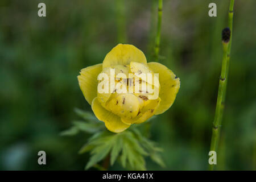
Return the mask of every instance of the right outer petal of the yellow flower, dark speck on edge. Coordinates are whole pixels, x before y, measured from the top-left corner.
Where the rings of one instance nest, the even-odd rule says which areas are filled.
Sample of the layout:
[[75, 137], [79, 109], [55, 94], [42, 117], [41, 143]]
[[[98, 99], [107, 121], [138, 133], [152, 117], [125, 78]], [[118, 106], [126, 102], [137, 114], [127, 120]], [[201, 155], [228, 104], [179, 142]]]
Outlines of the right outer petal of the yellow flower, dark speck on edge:
[[148, 67], [154, 73], [159, 73], [159, 82], [161, 85], [159, 97], [162, 101], [156, 109], [155, 114], [162, 114], [174, 103], [176, 94], [180, 88], [180, 78], [177, 78], [170, 69], [160, 63], [151, 62], [148, 63]]

